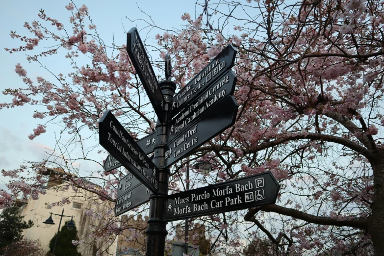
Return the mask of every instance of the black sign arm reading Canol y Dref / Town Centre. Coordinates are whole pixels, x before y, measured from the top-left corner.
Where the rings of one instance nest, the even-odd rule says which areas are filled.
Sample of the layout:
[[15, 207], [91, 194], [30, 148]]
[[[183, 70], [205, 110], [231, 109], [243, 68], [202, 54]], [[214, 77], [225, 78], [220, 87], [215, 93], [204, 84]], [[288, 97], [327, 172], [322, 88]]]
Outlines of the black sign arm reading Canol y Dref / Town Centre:
[[215, 105], [200, 121], [167, 143], [165, 167], [192, 154], [194, 149], [234, 124], [238, 105], [233, 96]]

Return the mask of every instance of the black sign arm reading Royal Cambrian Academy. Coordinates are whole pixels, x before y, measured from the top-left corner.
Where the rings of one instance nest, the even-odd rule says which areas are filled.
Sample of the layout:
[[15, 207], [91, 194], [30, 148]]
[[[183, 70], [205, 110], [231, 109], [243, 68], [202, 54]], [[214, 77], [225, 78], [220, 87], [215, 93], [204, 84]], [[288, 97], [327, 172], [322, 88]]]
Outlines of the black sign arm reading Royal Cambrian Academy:
[[176, 117], [172, 119], [168, 129], [168, 141], [172, 141], [182, 132], [194, 126], [213, 107], [224, 100], [227, 96], [233, 95], [237, 77], [232, 71], [226, 72], [211, 86], [205, 88], [204, 93], [190, 102]]

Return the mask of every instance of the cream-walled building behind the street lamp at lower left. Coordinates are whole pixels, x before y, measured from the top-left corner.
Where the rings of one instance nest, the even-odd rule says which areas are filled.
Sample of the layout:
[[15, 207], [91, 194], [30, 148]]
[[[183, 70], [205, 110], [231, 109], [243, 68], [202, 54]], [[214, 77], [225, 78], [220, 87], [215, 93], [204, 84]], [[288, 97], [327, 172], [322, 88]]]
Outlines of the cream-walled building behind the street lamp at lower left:
[[[82, 256], [94, 256], [98, 250], [107, 250], [110, 254], [116, 253], [116, 242], [111, 245], [110, 237], [105, 237], [104, 240], [95, 240], [92, 232], [93, 227], [102, 226], [102, 221], [99, 218], [88, 216], [85, 214], [86, 210], [94, 209], [95, 212], [106, 213], [113, 203], [109, 201], [102, 202], [98, 199], [96, 194], [85, 190], [74, 191], [71, 186], [68, 186], [67, 190], [62, 190], [64, 180], [62, 179], [64, 171], [57, 168], [47, 168], [47, 171], [41, 173], [47, 176], [47, 182], [43, 185], [46, 188], [46, 195], [40, 195], [39, 199], [33, 200], [29, 197], [28, 200], [23, 197], [16, 198], [14, 206], [20, 207], [19, 213], [24, 216], [24, 220], [33, 221], [34, 225], [30, 229], [24, 230], [24, 237], [31, 239], [39, 239], [44, 249], [49, 251], [49, 242], [54, 234], [57, 232], [60, 216], [52, 215], [52, 219], [55, 225], [46, 227], [43, 223], [50, 217], [50, 212], [61, 214], [64, 209], [64, 215], [74, 216], [73, 220], [77, 227], [77, 236], [84, 242], [78, 246], [78, 252]], [[47, 205], [51, 205], [55, 202], [60, 202], [62, 198], [68, 198], [70, 204], [64, 204], [63, 206], [54, 206], [51, 209], [47, 208]], [[94, 202], [100, 205], [95, 205]], [[65, 221], [71, 220], [70, 217], [63, 217], [61, 227], [64, 226]]]

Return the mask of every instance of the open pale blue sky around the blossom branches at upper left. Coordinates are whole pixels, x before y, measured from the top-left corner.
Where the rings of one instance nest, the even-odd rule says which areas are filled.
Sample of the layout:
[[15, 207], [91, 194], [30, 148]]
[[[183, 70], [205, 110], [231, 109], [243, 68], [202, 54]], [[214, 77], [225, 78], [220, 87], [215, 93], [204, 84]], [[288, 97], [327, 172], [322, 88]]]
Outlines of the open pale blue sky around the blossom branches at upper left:
[[[180, 4], [181, 2], [182, 4]], [[26, 28], [23, 25], [25, 22], [31, 23], [38, 20], [37, 14], [40, 9], [43, 9], [48, 16], [57, 19], [68, 27], [71, 15], [65, 8], [68, 3], [70, 3], [69, 0], [15, 0], [3, 2], [0, 11], [0, 76], [2, 77], [0, 91], [5, 88], [25, 86], [21, 77], [14, 71], [17, 63], [20, 63], [26, 69], [28, 77], [35, 79], [38, 76], [49, 75], [36, 62], [28, 63], [24, 52], [10, 54], [3, 49], [16, 48], [22, 45], [22, 42], [18, 39], [12, 39], [9, 36], [10, 31], [27, 35]], [[191, 17], [195, 17], [195, 13], [202, 13], [202, 8], [195, 6], [195, 0], [76, 0], [74, 3], [78, 7], [81, 4], [87, 5], [91, 19], [97, 25], [98, 32], [107, 45], [113, 39], [117, 45], [126, 44], [124, 31], [128, 31], [134, 26], [139, 31], [144, 28], [144, 30], [140, 31], [142, 38], [148, 36], [153, 39], [159, 31], [145, 29], [145, 21], [150, 20], [150, 18], [160, 28], [178, 29], [181, 28], [180, 25], [182, 24], [180, 17], [185, 12], [190, 13]], [[157, 53], [152, 57], [157, 58], [156, 55]], [[62, 59], [63, 57], [60, 57], [60, 60]], [[54, 56], [44, 58], [44, 61], [44, 65], [49, 67], [54, 74], [68, 74], [71, 71], [69, 63], [60, 64]], [[0, 102], [11, 101], [12, 97], [0, 94]], [[32, 118], [33, 111], [38, 109], [38, 106], [25, 105], [0, 110], [2, 121], [0, 123], [0, 170], [17, 169], [27, 160], [41, 161], [54, 148], [55, 136], [58, 135], [59, 129], [53, 129], [52, 125], [48, 127], [50, 129], [47, 129], [46, 133], [37, 136], [33, 140], [28, 139], [28, 135], [32, 133], [33, 128], [36, 128], [38, 124], [45, 123], [40, 119]], [[81, 166], [81, 169], [83, 168], [100, 168], [100, 166]], [[6, 188], [5, 183], [7, 181], [8, 179], [0, 177], [0, 189]]]

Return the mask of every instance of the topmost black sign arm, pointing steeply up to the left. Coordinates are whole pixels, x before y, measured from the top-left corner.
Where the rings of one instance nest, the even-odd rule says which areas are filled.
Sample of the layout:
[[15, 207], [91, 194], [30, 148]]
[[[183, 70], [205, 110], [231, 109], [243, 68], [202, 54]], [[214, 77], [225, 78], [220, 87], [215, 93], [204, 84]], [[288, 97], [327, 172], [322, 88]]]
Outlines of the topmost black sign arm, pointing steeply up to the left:
[[136, 27], [132, 27], [127, 33], [127, 52], [154, 107], [154, 112], [160, 122], [163, 122], [163, 93]]

